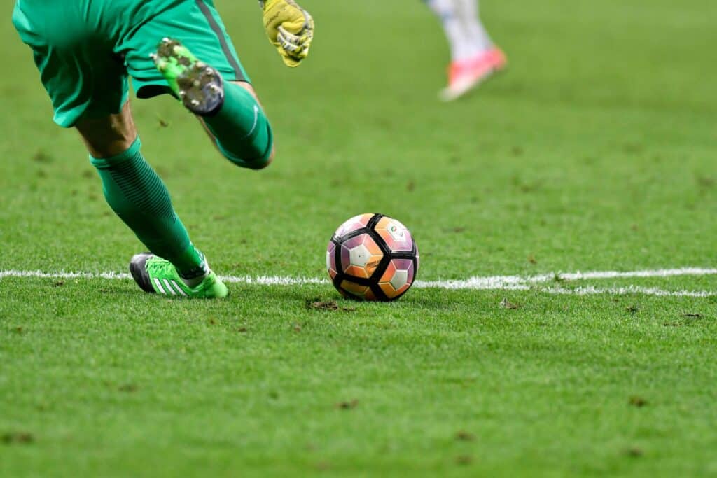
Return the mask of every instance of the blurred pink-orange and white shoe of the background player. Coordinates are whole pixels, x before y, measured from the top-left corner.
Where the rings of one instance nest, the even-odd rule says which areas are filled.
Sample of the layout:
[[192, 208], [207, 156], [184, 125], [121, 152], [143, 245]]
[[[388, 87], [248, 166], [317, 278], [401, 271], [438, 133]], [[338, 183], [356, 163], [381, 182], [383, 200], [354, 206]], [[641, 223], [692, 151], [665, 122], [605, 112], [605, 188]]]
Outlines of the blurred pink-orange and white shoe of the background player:
[[480, 52], [473, 58], [452, 62], [448, 67], [448, 86], [440, 91], [443, 101], [452, 101], [480, 85], [495, 72], [508, 64], [505, 54], [498, 47]]

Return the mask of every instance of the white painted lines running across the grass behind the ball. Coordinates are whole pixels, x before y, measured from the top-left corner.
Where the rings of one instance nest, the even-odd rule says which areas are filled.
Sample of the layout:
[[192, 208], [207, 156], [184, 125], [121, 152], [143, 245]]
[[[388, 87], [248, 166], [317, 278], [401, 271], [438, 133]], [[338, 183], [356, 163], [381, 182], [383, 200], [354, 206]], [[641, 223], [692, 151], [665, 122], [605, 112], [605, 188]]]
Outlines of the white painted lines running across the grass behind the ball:
[[[548, 294], [565, 295], [594, 295], [594, 294], [642, 294], [663, 297], [711, 297], [717, 291], [710, 290], [662, 290], [657, 287], [640, 287], [628, 285], [625, 287], [551, 287], [548, 282], [570, 282], [587, 279], [623, 279], [630, 277], [675, 277], [675, 276], [705, 276], [715, 275], [717, 269], [700, 267], [680, 267], [675, 269], [647, 269], [637, 271], [592, 271], [570, 272], [555, 274], [540, 274], [533, 276], [488, 276], [470, 277], [468, 279], [451, 279], [436, 281], [417, 281], [414, 287], [422, 289], [445, 290], [538, 290]], [[0, 270], [0, 279], [3, 277], [39, 277], [49, 279], [130, 279], [125, 272], [42, 272], [22, 270]], [[279, 277], [279, 276], [224, 276], [225, 282], [253, 285], [328, 285], [328, 279], [313, 277]]]

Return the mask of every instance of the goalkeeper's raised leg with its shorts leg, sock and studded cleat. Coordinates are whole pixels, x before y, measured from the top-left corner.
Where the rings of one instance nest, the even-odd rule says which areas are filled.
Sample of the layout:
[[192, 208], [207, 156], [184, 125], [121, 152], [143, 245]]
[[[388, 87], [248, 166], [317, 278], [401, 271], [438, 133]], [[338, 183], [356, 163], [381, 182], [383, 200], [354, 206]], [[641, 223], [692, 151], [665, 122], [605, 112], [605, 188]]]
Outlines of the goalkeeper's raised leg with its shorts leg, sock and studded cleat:
[[260, 169], [271, 161], [269, 121], [212, 1], [168, 4], [143, 19], [119, 48], [138, 97], [179, 97], [238, 166]]

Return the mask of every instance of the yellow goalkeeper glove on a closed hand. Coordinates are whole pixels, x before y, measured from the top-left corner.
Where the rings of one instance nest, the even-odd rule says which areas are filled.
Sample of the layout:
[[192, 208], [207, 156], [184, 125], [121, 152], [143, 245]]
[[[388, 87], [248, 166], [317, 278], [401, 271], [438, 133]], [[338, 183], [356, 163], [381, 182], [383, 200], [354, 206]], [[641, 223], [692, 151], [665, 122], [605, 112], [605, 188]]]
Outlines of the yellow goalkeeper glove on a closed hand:
[[309, 54], [313, 19], [294, 0], [260, 0], [269, 41], [288, 67], [298, 67]]

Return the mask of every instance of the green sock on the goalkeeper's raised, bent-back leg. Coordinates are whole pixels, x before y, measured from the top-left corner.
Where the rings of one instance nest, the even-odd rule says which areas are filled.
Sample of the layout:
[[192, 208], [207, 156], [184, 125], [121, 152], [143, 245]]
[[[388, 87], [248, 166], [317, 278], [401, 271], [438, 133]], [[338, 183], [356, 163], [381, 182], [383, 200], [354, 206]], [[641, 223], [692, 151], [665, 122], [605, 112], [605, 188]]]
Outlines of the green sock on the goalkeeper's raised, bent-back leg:
[[272, 150], [271, 127], [250, 92], [224, 82], [224, 105], [216, 115], [204, 117], [204, 123], [229, 161], [252, 169], [267, 165]]

